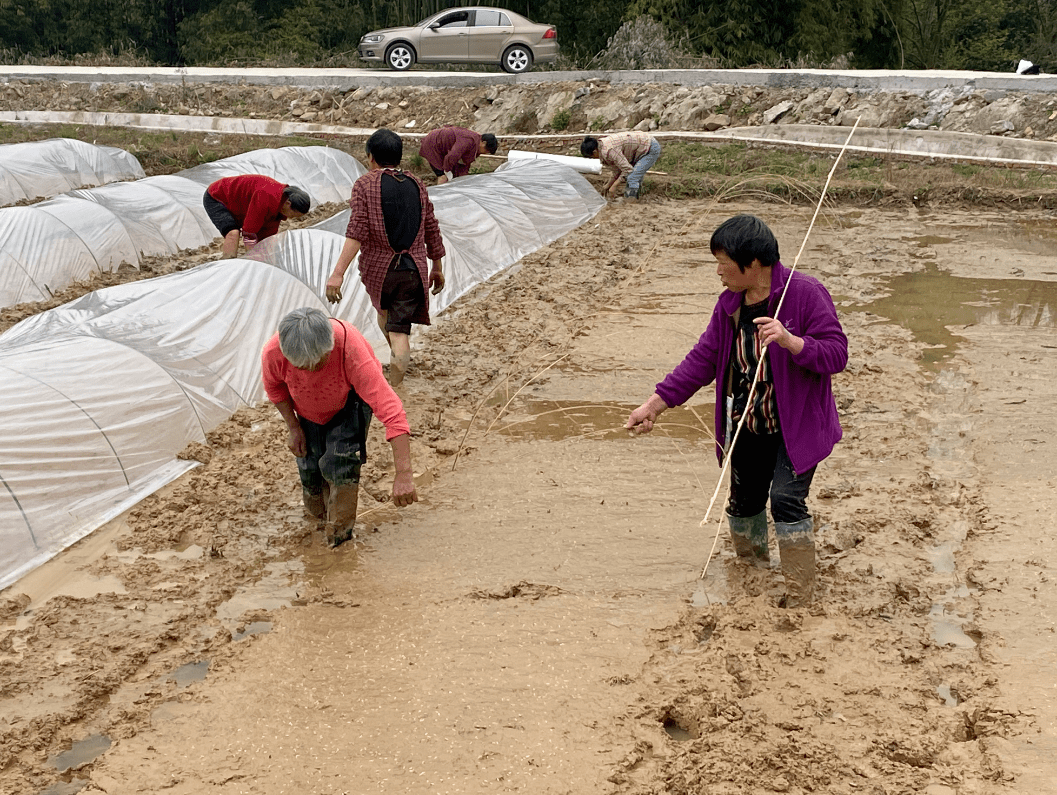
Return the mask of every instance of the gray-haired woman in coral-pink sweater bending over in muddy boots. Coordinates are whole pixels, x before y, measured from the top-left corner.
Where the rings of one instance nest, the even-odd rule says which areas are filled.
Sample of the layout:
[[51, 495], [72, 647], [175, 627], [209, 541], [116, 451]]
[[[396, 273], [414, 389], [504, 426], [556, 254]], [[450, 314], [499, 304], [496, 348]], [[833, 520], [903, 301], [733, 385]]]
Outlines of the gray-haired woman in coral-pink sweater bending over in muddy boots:
[[295, 309], [264, 346], [262, 364], [264, 391], [290, 430], [304, 510], [326, 521], [331, 546], [353, 536], [372, 412], [393, 449], [393, 503], [418, 501], [404, 405], [355, 327], [318, 309]]

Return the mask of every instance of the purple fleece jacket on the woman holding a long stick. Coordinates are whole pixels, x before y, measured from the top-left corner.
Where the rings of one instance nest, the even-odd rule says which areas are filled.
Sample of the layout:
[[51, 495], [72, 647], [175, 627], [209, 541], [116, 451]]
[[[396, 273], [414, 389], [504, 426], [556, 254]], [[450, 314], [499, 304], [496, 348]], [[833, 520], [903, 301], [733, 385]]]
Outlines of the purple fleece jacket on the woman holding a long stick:
[[[799, 271], [791, 273], [781, 262], [771, 273], [769, 312], [778, 306], [782, 289], [792, 276], [790, 289], [778, 318], [791, 333], [803, 338], [797, 355], [777, 343], [767, 346], [767, 357], [775, 382], [778, 422], [797, 473], [806, 472], [830, 455], [840, 441], [840, 421], [833, 400], [830, 376], [848, 364], [848, 337], [845, 336], [833, 299], [818, 279]], [[725, 411], [723, 392], [734, 345], [734, 313], [741, 307], [742, 294], [724, 290], [708, 328], [686, 358], [657, 384], [656, 393], [669, 406], [680, 406], [701, 387], [716, 382], [716, 438], [723, 439]], [[774, 317], [773, 314], [769, 315]], [[719, 376], [719, 377], [717, 377]], [[743, 431], [744, 432], [744, 431]], [[716, 446], [723, 460], [723, 448]]]

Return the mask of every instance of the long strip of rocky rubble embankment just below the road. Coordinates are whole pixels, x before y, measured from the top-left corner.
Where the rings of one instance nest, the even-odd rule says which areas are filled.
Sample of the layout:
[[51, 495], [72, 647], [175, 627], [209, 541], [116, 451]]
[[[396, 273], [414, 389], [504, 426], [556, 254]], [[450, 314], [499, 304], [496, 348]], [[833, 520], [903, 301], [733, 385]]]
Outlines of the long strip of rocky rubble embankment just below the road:
[[706, 130], [768, 124], [941, 129], [1057, 141], [1057, 99], [965, 87], [927, 92], [576, 82], [490, 88], [294, 87], [12, 80], [0, 110], [174, 113], [428, 130], [458, 124], [503, 133]]

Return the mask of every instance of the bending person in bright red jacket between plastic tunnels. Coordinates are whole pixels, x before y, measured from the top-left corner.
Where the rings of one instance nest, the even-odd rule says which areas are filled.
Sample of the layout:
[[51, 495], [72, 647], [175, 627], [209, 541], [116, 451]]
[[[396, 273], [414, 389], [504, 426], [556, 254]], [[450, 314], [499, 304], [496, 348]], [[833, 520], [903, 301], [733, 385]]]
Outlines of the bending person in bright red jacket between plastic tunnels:
[[283, 185], [264, 174], [224, 177], [206, 188], [202, 199], [206, 215], [224, 238], [224, 259], [239, 251], [239, 235], [246, 248], [275, 235], [288, 218], [300, 218], [312, 208], [301, 188]]

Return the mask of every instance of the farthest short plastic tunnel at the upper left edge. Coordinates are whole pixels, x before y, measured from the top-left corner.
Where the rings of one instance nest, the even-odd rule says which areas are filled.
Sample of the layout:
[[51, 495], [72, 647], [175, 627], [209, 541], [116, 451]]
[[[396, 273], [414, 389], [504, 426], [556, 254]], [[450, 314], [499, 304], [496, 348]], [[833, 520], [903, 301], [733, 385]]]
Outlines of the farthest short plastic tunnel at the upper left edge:
[[143, 177], [140, 161], [113, 146], [73, 138], [0, 146], [0, 205]]

